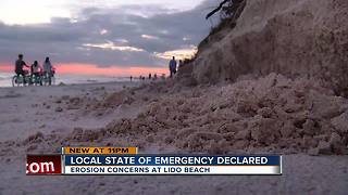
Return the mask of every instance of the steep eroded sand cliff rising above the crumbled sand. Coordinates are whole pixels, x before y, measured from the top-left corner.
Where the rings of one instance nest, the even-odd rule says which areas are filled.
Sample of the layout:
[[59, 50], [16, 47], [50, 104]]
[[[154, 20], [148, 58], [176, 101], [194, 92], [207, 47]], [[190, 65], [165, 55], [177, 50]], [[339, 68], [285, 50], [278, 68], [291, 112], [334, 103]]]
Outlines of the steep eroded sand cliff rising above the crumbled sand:
[[234, 29], [207, 40], [192, 63], [199, 82], [274, 72], [348, 95], [346, 0], [247, 0]]

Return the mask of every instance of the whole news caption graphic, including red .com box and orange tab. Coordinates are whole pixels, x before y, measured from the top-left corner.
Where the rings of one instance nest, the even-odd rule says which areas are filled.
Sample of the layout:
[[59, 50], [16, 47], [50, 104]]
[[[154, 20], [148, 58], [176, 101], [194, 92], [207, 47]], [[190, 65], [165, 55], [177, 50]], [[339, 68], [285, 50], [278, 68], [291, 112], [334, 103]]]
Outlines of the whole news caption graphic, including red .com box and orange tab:
[[62, 147], [27, 155], [26, 174], [282, 174], [282, 156], [142, 155], [137, 147]]

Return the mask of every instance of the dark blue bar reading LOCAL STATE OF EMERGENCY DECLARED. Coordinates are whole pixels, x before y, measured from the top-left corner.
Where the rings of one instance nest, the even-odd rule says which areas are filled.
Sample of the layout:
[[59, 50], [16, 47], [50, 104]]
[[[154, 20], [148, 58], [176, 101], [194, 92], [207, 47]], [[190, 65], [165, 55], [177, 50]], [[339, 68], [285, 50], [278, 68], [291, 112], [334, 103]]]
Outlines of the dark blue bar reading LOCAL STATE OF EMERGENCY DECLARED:
[[64, 155], [65, 166], [279, 166], [281, 156]]

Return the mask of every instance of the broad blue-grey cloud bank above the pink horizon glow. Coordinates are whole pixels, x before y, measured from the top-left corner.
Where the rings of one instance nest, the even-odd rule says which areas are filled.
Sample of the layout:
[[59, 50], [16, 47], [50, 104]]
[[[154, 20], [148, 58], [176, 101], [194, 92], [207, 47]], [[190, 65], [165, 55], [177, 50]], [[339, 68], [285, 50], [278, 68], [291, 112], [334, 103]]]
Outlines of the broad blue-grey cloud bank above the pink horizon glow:
[[215, 2], [181, 12], [156, 5], [86, 8], [72, 18], [54, 17], [45, 24], [0, 23], [0, 64], [12, 64], [24, 53], [28, 62], [49, 55], [59, 64], [166, 67], [169, 55], [195, 51], [192, 46], [208, 35], [204, 14]]

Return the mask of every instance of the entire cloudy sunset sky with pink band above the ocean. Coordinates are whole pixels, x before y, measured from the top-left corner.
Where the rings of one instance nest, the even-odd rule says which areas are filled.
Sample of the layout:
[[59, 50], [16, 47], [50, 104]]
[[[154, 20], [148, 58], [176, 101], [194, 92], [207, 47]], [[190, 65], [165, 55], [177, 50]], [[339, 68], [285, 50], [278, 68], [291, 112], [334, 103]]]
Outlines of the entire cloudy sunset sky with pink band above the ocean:
[[[0, 72], [50, 56], [62, 74], [165, 73], [191, 56], [219, 0], [0, 0]], [[216, 23], [216, 22], [215, 22]]]

